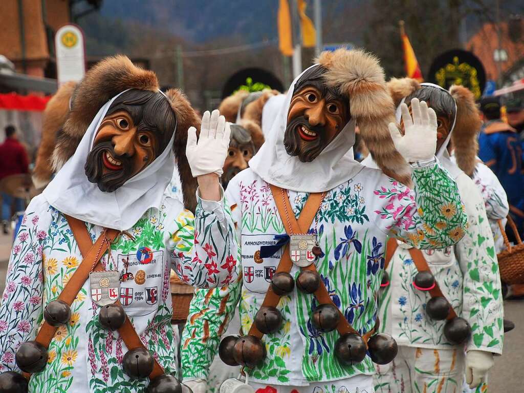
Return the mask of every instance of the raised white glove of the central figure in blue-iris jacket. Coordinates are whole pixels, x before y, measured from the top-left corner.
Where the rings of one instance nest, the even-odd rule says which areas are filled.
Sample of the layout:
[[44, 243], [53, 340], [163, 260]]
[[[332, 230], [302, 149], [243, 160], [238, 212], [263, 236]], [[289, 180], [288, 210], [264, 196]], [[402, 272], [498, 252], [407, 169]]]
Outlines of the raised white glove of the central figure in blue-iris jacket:
[[404, 136], [395, 123], [389, 123], [389, 133], [395, 147], [407, 162], [430, 160], [436, 151], [436, 113], [424, 101], [418, 98], [411, 100], [411, 114], [408, 105], [400, 105]]

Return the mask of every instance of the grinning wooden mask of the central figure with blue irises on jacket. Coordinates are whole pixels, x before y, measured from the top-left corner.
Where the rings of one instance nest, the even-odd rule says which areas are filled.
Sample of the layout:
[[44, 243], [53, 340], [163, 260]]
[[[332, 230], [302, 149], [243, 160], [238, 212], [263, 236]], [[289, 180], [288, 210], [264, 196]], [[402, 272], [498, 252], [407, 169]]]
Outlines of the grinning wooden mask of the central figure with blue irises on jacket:
[[325, 85], [324, 72], [321, 66], [304, 72], [289, 104], [284, 146], [302, 162], [313, 161], [351, 120], [349, 100]]

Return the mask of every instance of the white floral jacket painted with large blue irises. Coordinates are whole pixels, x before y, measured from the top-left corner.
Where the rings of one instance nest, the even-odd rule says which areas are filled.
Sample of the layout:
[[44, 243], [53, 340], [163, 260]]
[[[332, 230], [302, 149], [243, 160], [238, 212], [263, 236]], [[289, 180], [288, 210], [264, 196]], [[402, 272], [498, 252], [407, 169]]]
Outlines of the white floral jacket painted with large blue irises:
[[[464, 234], [466, 217], [449, 174], [433, 162], [414, 169], [412, 178], [414, 191], [377, 169], [363, 167], [353, 179], [326, 194], [309, 229], [318, 235], [323, 251], [316, 269], [335, 305], [361, 333], [375, 324], [387, 236], [435, 248], [453, 245]], [[182, 373], [187, 380], [207, 377], [220, 336], [237, 305], [242, 330], [249, 330], [282, 252], [263, 260], [254, 258], [260, 246], [274, 245], [275, 236], [285, 233], [269, 185], [248, 168], [231, 180], [226, 196], [237, 225], [241, 274], [228, 286], [196, 291], [182, 337]], [[307, 198], [306, 193], [289, 192], [295, 215]], [[446, 208], [456, 214], [446, 216]], [[294, 266], [291, 275], [296, 278], [298, 273]], [[369, 357], [355, 366], [337, 362], [333, 348], [339, 334], [321, 333], [310, 321], [316, 304], [312, 295], [297, 290], [281, 298], [278, 309], [283, 325], [275, 334], [264, 336], [268, 355], [263, 365], [248, 370], [250, 380], [303, 386], [374, 373]]]

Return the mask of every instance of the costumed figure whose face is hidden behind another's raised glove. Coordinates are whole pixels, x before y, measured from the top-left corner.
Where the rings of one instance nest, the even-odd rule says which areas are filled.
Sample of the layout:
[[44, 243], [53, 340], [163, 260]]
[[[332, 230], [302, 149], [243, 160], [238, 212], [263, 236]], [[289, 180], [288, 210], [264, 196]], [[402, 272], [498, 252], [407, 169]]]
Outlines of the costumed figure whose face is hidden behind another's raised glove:
[[[417, 110], [415, 100], [428, 102], [436, 112], [436, 156], [459, 188], [467, 226], [464, 238], [455, 246], [440, 245], [436, 250], [388, 240], [378, 315], [381, 331], [392, 334], [399, 353], [390, 364], [377, 365], [375, 389], [384, 393], [456, 392], [462, 391], [464, 376], [470, 388], [475, 388], [493, 367], [493, 355], [502, 352], [503, 304], [485, 203], [467, 175], [476, 166], [480, 128], [473, 93], [461, 86], [448, 92], [406, 79], [392, 80], [389, 88], [397, 104], [401, 98], [397, 121], [406, 133], [410, 111], [414, 115]], [[446, 150], [450, 138], [457, 164]], [[451, 217], [457, 210], [442, 205], [441, 213]], [[449, 230], [444, 221], [436, 227]]]

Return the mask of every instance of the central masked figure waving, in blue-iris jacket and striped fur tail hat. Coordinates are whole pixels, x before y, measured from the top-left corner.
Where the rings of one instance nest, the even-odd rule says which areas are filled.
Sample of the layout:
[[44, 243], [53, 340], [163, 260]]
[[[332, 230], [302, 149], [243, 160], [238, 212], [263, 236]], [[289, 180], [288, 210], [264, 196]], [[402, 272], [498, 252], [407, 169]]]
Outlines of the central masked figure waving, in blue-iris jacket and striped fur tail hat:
[[[396, 354], [388, 335], [373, 335], [387, 236], [428, 249], [465, 231], [456, 184], [434, 157], [436, 116], [417, 114], [397, 139], [411, 172], [388, 130], [394, 105], [375, 57], [324, 52], [292, 83], [266, 142], [226, 190], [242, 263], [234, 282], [191, 305], [181, 356], [195, 391], [217, 351], [244, 366], [251, 391], [373, 391], [372, 359]], [[355, 122], [380, 169], [353, 159]], [[221, 342], [237, 306], [243, 336]], [[221, 391], [242, 382], [226, 383]]]

